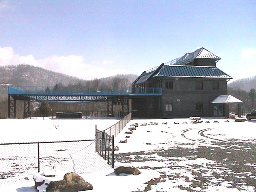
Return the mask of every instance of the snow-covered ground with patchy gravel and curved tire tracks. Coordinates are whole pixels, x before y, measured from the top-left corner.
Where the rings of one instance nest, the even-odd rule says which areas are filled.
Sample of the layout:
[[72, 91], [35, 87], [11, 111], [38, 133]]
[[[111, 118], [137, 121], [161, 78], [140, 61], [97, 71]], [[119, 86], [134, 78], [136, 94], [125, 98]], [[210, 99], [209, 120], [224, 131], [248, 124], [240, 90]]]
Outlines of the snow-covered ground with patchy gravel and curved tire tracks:
[[[115, 166], [134, 166], [142, 173], [117, 176], [114, 169], [106, 169], [80, 175], [93, 185], [94, 192], [254, 192], [256, 121], [202, 120], [198, 124], [189, 119], [132, 120], [115, 137], [119, 147], [115, 151]], [[103, 130], [117, 121], [0, 119], [0, 137], [1, 143], [94, 139], [95, 125]], [[139, 127], [133, 134], [126, 134], [135, 122]], [[150, 122], [158, 125], [149, 125]], [[142, 123], [147, 125], [141, 126]], [[120, 143], [121, 140], [127, 143]], [[0, 162], [4, 162], [2, 157]], [[0, 191], [34, 192], [33, 186], [34, 182], [18, 183], [0, 186]]]

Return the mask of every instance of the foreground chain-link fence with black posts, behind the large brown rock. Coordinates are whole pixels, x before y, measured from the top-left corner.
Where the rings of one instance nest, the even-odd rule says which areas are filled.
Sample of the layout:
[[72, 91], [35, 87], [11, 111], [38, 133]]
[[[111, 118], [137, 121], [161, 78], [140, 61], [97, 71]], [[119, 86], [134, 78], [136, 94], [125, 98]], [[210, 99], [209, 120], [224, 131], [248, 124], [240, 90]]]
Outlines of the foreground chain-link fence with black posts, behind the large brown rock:
[[[34, 173], [45, 170], [89, 173], [109, 169], [113, 167], [113, 153], [109, 151], [112, 141], [109, 137], [100, 140], [0, 143], [0, 185], [33, 181]], [[101, 154], [106, 158], [96, 151], [99, 142], [104, 143]]]

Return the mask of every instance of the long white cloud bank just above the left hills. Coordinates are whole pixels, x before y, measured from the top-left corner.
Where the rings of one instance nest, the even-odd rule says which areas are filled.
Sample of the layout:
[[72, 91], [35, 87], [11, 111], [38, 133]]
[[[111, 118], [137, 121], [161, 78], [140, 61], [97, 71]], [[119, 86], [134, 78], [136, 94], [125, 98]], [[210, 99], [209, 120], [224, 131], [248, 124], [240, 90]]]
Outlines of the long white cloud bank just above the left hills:
[[15, 54], [12, 47], [0, 47], [0, 65], [29, 64], [36, 67], [43, 67], [58, 73], [64, 73], [69, 76], [79, 77], [81, 79], [94, 79], [116, 74], [126, 73], [123, 69], [115, 69], [112, 61], [99, 62], [102, 67], [93, 64], [87, 64], [84, 57], [78, 55], [56, 56], [36, 60], [33, 55], [20, 56]]

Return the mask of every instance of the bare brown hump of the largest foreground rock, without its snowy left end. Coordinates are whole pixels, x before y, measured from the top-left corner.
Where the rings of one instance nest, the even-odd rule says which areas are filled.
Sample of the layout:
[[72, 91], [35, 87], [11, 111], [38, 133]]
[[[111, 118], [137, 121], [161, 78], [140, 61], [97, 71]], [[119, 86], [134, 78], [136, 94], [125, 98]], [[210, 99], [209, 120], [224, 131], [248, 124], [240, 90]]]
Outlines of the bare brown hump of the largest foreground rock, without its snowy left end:
[[67, 173], [64, 175], [64, 180], [53, 181], [47, 187], [47, 191], [50, 192], [77, 192], [92, 189], [93, 186], [76, 173]]

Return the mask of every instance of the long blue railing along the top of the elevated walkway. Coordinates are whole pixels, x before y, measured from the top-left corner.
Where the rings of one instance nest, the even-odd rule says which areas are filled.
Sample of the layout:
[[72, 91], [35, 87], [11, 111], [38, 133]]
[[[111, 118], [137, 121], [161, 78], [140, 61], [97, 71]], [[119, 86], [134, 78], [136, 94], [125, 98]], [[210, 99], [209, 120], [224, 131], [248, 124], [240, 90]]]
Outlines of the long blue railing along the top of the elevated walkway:
[[8, 87], [8, 95], [162, 95], [162, 88], [140, 87]]

